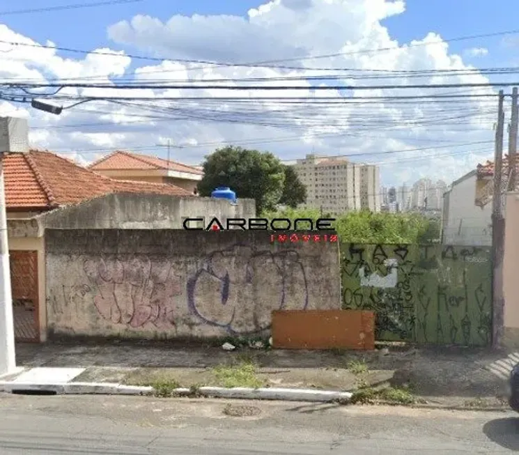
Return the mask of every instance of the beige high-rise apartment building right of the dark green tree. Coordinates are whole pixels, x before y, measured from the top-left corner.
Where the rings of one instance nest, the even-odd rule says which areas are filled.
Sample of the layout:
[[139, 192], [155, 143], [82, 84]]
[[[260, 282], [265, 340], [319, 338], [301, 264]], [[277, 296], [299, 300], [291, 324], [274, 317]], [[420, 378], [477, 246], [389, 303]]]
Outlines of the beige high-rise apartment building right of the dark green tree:
[[346, 158], [307, 155], [294, 169], [307, 187], [309, 208], [330, 213], [368, 209], [380, 211], [380, 170]]

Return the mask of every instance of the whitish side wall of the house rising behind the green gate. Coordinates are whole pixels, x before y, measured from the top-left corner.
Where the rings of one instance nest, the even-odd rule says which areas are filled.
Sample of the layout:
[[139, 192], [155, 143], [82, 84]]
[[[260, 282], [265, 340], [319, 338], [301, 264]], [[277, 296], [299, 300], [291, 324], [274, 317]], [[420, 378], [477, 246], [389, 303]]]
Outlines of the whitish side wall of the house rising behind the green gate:
[[492, 202], [476, 206], [476, 173], [454, 182], [444, 196], [442, 243], [444, 245], [492, 245]]

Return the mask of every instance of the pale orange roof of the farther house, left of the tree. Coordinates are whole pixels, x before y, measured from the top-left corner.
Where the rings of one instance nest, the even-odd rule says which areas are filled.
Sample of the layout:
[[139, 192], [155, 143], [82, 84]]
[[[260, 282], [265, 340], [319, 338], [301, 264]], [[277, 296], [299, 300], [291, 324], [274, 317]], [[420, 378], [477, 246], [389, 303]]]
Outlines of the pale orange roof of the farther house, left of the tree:
[[93, 171], [126, 171], [126, 170], [170, 170], [178, 172], [192, 173], [200, 176], [203, 172], [193, 166], [180, 164], [174, 161], [164, 160], [159, 157], [140, 155], [126, 151], [115, 151], [102, 157], [100, 160], [91, 164], [89, 169]]

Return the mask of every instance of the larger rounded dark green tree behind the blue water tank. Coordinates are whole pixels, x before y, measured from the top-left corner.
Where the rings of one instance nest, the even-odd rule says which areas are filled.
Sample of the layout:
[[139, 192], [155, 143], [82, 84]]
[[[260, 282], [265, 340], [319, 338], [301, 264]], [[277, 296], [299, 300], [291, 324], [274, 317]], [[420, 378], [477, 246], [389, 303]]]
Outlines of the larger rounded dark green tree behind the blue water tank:
[[240, 198], [255, 199], [256, 211], [273, 210], [285, 180], [283, 164], [272, 153], [227, 146], [217, 149], [203, 163], [200, 196], [217, 187], [230, 187]]

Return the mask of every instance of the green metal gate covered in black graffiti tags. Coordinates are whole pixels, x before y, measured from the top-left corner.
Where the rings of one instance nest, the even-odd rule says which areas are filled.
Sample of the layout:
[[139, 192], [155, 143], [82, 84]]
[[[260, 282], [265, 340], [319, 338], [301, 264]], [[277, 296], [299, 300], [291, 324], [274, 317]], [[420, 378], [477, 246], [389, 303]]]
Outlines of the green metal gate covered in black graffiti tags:
[[376, 339], [486, 346], [490, 248], [341, 244], [343, 309], [371, 309]]

